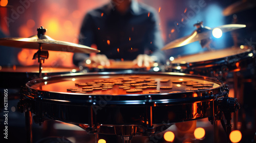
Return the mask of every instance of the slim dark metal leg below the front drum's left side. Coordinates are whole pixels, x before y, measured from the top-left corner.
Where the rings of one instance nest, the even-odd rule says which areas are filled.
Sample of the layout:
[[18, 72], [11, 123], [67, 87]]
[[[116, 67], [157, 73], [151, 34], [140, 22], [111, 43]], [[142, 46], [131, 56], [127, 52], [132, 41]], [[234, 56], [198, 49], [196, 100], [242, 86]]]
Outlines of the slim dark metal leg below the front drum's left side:
[[27, 143], [32, 143], [32, 113], [27, 110], [25, 112], [26, 132], [27, 132]]

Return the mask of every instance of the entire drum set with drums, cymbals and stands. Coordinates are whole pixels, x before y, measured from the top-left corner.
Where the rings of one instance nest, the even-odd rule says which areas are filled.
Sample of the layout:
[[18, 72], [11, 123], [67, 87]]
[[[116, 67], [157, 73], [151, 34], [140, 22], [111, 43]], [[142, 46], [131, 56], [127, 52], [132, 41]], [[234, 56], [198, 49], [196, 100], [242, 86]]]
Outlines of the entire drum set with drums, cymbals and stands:
[[[218, 28], [228, 32], [243, 27], [225, 25]], [[0, 70], [4, 81], [12, 80], [10, 77], [20, 79], [10, 88], [25, 85], [20, 89], [17, 107], [25, 112], [27, 142], [32, 142], [32, 115], [38, 124], [46, 120], [60, 121], [93, 134], [114, 134], [123, 142], [132, 142], [133, 136], [152, 136], [175, 123], [208, 118], [211, 124], [221, 121], [227, 142], [230, 142], [232, 113], [240, 105], [236, 98], [228, 97], [228, 86], [216, 76], [220, 74], [218, 71], [225, 74], [254, 66], [256, 53], [251, 47], [209, 51], [170, 60], [165, 65], [168, 72], [149, 72], [144, 67], [137, 70], [130, 62], [113, 62], [112, 67], [88, 67], [116, 72], [79, 73], [78, 68], [42, 68], [49, 57], [48, 50], [88, 54], [100, 51], [56, 41], [45, 35], [43, 27], [37, 31], [37, 35], [29, 38], [0, 39], [0, 45], [38, 49], [34, 59], [38, 59], [39, 70], [36, 67], [2, 67]], [[204, 40], [212, 31], [198, 28], [193, 34], [170, 42], [163, 50]], [[34, 76], [36, 73], [38, 76]]]

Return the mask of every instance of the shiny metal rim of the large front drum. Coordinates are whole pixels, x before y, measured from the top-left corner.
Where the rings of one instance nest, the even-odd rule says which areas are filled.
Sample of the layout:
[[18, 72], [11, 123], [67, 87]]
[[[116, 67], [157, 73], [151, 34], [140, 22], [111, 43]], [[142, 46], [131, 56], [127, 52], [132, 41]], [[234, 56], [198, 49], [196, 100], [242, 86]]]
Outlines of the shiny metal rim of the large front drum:
[[[99, 76], [99, 75], [119, 75], [119, 74], [153, 74], [153, 75], [173, 75], [173, 76], [187, 76], [187, 77], [194, 77], [203, 80], [210, 80], [214, 79], [214, 83], [218, 83], [220, 86], [216, 88], [209, 88], [204, 90], [197, 90], [197, 91], [189, 91], [189, 92], [179, 92], [179, 93], [154, 93], [154, 94], [120, 94], [118, 96], [109, 95], [109, 94], [81, 94], [81, 93], [70, 93], [70, 92], [54, 92], [54, 91], [44, 91], [31, 88], [34, 82], [38, 83], [38, 81], [45, 82], [49, 79], [56, 80], [55, 78], [68, 78], [70, 76]], [[26, 91], [22, 92], [27, 97], [31, 99], [41, 99], [44, 102], [51, 102], [51, 103], [61, 103], [61, 104], [81, 104], [81, 105], [98, 105], [100, 104], [100, 98], [111, 97], [111, 100], [105, 100], [108, 105], [143, 105], [147, 106], [147, 104], [158, 104], [158, 105], [166, 105], [166, 104], [186, 104], [186, 102], [202, 102], [207, 100], [212, 100], [212, 96], [210, 92], [217, 92], [220, 93], [225, 89], [225, 85], [223, 82], [218, 80], [217, 78], [213, 77], [205, 77], [205, 76], [198, 76], [198, 75], [190, 75], [190, 74], [183, 74], [183, 73], [149, 73], [149, 72], [139, 72], [139, 73], [124, 73], [124, 72], [102, 72], [102, 73], [75, 73], [75, 74], [65, 74], [65, 75], [57, 75], [57, 76], [50, 76], [40, 79], [34, 79], [26, 83]], [[40, 92], [40, 93], [39, 93]], [[193, 95], [194, 93], [198, 94], [198, 97], [189, 97], [189, 98], [177, 98], [173, 99], [174, 96], [181, 97], [184, 94], [186, 95]], [[50, 96], [51, 94], [51, 96]], [[204, 94], [204, 96], [203, 96]], [[48, 96], [49, 95], [49, 96]], [[82, 96], [81, 96], [82, 95]], [[218, 96], [218, 95], [217, 95]], [[223, 96], [221, 94], [220, 96]], [[52, 98], [52, 97], [59, 97], [59, 99]], [[73, 98], [72, 98], [73, 97]], [[61, 100], [66, 99], [66, 100]], [[131, 100], [132, 99], [132, 100]], [[164, 100], [163, 100], [164, 99]], [[81, 101], [82, 100], [82, 101]], [[85, 102], [86, 101], [86, 102]]]

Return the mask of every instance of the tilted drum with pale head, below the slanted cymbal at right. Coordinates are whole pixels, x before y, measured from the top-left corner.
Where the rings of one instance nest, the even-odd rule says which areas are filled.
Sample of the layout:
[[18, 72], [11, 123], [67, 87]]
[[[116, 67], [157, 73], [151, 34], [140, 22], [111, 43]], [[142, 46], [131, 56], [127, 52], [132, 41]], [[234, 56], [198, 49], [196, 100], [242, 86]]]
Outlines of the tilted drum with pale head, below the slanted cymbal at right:
[[255, 51], [250, 49], [229, 48], [208, 51], [175, 58], [170, 61], [170, 71], [216, 76], [228, 71], [239, 71], [255, 64]]

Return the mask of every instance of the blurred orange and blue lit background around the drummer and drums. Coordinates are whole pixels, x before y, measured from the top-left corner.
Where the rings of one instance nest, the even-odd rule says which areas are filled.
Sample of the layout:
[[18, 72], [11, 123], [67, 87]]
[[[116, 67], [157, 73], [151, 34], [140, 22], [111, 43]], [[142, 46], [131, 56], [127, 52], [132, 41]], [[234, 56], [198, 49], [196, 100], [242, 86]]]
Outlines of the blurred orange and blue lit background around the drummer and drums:
[[[233, 0], [138, 0], [148, 6], [153, 7], [159, 14], [159, 26], [162, 32], [162, 38], [165, 44], [177, 38], [191, 34], [196, 28], [193, 26], [197, 21], [203, 21], [203, 25], [207, 27], [218, 27], [231, 23], [244, 24], [246, 28], [236, 30], [235, 32], [224, 33], [219, 39], [213, 38], [213, 49], [225, 49], [233, 45], [253, 45], [256, 43], [256, 7], [255, 3], [246, 9], [232, 14], [223, 14], [223, 10], [236, 2]], [[81, 22], [84, 15], [103, 4], [109, 3], [109, 0], [20, 0], [7, 1], [1, 0], [0, 4], [0, 28], [1, 37], [30, 37], [36, 35], [36, 29], [43, 26], [47, 29], [46, 35], [55, 40], [68, 41], [78, 43], [78, 35], [81, 27]], [[233, 40], [233, 36], [237, 36], [238, 41]], [[37, 60], [32, 60], [33, 54], [37, 50], [18, 49], [14, 47], [0, 47], [0, 65], [1, 66], [31, 66], [38, 65]], [[199, 42], [190, 43], [188, 45], [166, 50], [167, 58], [179, 57], [184, 55], [196, 54], [207, 49], [202, 49]], [[45, 61], [44, 66], [49, 67], [74, 67], [72, 62], [73, 53], [67, 52], [53, 52], [49, 51], [49, 59]], [[253, 73], [246, 75], [251, 78]], [[245, 76], [245, 77], [246, 77]], [[0, 79], [1, 80], [1, 79]], [[1, 81], [2, 82], [2, 81]], [[11, 84], [11, 83], [8, 83]], [[248, 114], [240, 114], [246, 120], [238, 122], [238, 130], [242, 130], [242, 140], [240, 142], [254, 142], [255, 141], [255, 86], [250, 82], [245, 85], [241, 92], [246, 93], [244, 97], [244, 109]], [[248, 88], [248, 90], [247, 90]], [[233, 91], [231, 91], [233, 94]], [[25, 142], [24, 132], [24, 114], [16, 110], [15, 101], [10, 101], [10, 142]], [[2, 116], [1, 116], [2, 117]], [[242, 118], [242, 117], [241, 117]], [[194, 140], [187, 140], [187, 142], [214, 142], [214, 127], [207, 119], [197, 121], [198, 123], [189, 124], [186, 126], [186, 133], [182, 129], [177, 129], [176, 126], [169, 128], [169, 131], [174, 133], [174, 142], [186, 142], [186, 137], [193, 136], [196, 128], [204, 128], [205, 135], [202, 138]], [[54, 136], [61, 136], [72, 140], [73, 142], [94, 142], [94, 136], [88, 135], [74, 125], [67, 125], [63, 123], [52, 124], [52, 134]], [[61, 125], [61, 126], [59, 126]], [[2, 124], [1, 124], [2, 127]], [[34, 140], [39, 140], [46, 137], [44, 127], [33, 123]], [[225, 142], [225, 135], [222, 127], [219, 126], [219, 142]], [[2, 128], [1, 128], [2, 130]], [[102, 137], [104, 138], [104, 137]], [[112, 142], [110, 136], [104, 138], [106, 142]], [[157, 139], [146, 139], [147, 137], [134, 137], [135, 142], [168, 142], [164, 139], [163, 134], [156, 136]], [[0, 139], [2, 140], [3, 137]], [[108, 140], [109, 139], [109, 140]], [[114, 139], [115, 140], [115, 139]], [[119, 140], [120, 139], [116, 139]], [[136, 141], [137, 140], [137, 141]]]

